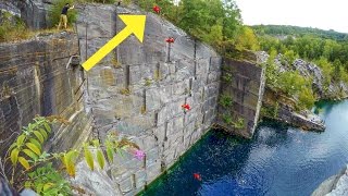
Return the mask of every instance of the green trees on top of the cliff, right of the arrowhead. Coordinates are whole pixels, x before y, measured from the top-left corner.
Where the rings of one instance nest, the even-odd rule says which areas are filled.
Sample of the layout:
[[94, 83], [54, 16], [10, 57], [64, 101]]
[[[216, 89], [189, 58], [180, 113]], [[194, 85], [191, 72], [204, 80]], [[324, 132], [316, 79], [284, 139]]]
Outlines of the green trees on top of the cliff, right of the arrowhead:
[[[152, 7], [161, 8], [161, 15], [216, 49], [236, 44], [239, 34], [253, 36], [251, 28], [243, 28], [240, 11], [232, 0], [181, 0], [177, 5], [171, 0], [138, 0], [139, 7], [152, 11]], [[250, 38], [250, 37], [249, 37]], [[256, 40], [253, 39], [250, 40]], [[239, 36], [239, 46], [254, 48], [248, 38]], [[223, 51], [223, 50], [221, 50]]]

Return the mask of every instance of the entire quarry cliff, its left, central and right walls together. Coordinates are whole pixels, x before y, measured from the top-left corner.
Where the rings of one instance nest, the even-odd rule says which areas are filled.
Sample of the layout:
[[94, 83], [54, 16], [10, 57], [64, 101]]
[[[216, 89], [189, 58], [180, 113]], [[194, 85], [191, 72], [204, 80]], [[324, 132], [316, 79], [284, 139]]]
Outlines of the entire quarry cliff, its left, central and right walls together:
[[[263, 70], [253, 63], [223, 60], [164, 19], [128, 9], [78, 7], [76, 34], [39, 35], [0, 45], [1, 151], [36, 115], [61, 115], [47, 148], [61, 151], [88, 139], [117, 133], [146, 152], [115, 157], [105, 171], [77, 164], [72, 183], [97, 195], [134, 195], [172, 167], [212, 125], [251, 137], [263, 95]], [[146, 14], [144, 42], [134, 36], [86, 72], [80, 68], [125, 25], [119, 14]], [[173, 37], [174, 44], [166, 38]], [[77, 61], [77, 62], [76, 62]], [[222, 65], [234, 79], [221, 82]], [[233, 108], [219, 108], [228, 93]], [[189, 110], [183, 108], [188, 105]], [[244, 119], [244, 128], [223, 124], [222, 114]]]

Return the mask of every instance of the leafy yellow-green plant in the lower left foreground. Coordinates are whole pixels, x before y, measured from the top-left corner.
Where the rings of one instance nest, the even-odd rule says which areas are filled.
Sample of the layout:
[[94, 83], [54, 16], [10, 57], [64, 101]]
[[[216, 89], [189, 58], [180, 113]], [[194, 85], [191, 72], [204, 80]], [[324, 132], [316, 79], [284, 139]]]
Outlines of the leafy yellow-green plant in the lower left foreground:
[[[50, 154], [45, 150], [45, 144], [52, 133], [51, 124], [57, 122], [69, 123], [60, 117], [37, 117], [23, 127], [5, 157], [0, 157], [0, 179], [3, 177], [17, 191], [32, 188], [39, 195], [72, 195], [71, 186], [63, 176], [64, 172], [75, 176], [78, 157], [84, 157], [92, 171], [97, 168], [95, 162], [101, 170], [110, 171], [115, 154], [127, 151], [138, 160], [145, 158], [145, 152], [136, 144], [120, 138], [115, 133], [109, 134], [103, 143], [94, 139], [84, 143], [82, 148]], [[62, 168], [57, 170], [53, 162]]]

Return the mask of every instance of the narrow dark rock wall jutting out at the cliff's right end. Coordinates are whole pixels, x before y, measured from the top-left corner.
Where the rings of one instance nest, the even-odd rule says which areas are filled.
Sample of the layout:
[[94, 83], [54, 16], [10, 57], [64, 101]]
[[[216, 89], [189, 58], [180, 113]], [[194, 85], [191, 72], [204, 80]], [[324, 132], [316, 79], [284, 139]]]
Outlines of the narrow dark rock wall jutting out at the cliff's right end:
[[[262, 105], [265, 71], [253, 63], [228, 59], [223, 70], [219, 125], [227, 132], [251, 138]], [[226, 103], [228, 99], [231, 103]]]

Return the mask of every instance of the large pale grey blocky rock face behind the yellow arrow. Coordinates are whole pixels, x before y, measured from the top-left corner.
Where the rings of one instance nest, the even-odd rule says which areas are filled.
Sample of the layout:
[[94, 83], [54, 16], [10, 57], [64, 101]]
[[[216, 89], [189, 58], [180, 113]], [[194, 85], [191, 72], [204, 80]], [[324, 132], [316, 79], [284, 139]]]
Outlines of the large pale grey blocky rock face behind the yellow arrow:
[[[117, 13], [140, 14], [100, 4], [80, 9], [77, 29], [83, 61], [125, 27]], [[170, 36], [175, 38], [172, 46], [165, 42]], [[113, 182], [111, 189], [103, 187], [105, 193], [139, 192], [209, 130], [216, 118], [220, 66], [215, 51], [147, 14], [144, 44], [130, 36], [87, 72], [86, 105], [98, 136], [102, 139], [116, 131], [133, 138], [147, 155], [145, 161], [117, 157], [121, 161], [104, 175]], [[184, 112], [184, 103], [191, 109]], [[80, 173], [77, 181], [98, 193], [100, 186], [86, 177], [90, 173]]]

